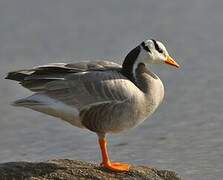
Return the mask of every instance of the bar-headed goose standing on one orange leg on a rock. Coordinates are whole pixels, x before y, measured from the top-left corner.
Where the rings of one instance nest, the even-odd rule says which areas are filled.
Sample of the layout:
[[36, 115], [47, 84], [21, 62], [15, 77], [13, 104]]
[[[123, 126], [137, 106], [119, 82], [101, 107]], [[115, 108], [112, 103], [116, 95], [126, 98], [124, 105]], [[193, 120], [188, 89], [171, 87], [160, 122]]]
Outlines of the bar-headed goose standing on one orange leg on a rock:
[[131, 50], [122, 66], [109, 61], [55, 63], [10, 72], [6, 79], [35, 92], [13, 105], [95, 132], [102, 165], [114, 171], [128, 171], [128, 164], [109, 160], [105, 135], [136, 127], [161, 103], [164, 87], [146, 67], [148, 64], [179, 67], [165, 46], [152, 39]]

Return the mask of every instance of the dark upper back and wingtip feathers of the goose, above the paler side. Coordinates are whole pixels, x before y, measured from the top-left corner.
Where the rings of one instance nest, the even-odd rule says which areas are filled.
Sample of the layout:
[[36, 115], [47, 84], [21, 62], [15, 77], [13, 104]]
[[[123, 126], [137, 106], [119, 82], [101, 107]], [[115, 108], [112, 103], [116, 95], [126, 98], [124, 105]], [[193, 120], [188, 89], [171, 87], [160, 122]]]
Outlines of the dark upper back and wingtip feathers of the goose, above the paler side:
[[55, 80], [64, 80], [71, 73], [119, 69], [121, 69], [119, 64], [109, 61], [82, 61], [69, 64], [52, 63], [31, 69], [12, 71], [5, 78], [18, 81], [23, 87], [33, 92], [38, 92], [44, 90], [47, 83]]

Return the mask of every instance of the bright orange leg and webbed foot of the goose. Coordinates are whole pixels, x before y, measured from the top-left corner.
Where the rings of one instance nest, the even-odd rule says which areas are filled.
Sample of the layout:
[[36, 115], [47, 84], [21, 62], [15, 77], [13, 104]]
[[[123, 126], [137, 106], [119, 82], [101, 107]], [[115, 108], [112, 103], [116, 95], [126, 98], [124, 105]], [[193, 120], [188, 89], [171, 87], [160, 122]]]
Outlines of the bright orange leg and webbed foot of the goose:
[[102, 163], [101, 164], [104, 167], [106, 167], [107, 169], [110, 169], [112, 171], [119, 171], [119, 172], [129, 170], [129, 165], [128, 164], [117, 163], [117, 162], [112, 163], [109, 160], [107, 146], [106, 146], [107, 141], [105, 139], [99, 139], [99, 144], [100, 144], [101, 154], [102, 154]]

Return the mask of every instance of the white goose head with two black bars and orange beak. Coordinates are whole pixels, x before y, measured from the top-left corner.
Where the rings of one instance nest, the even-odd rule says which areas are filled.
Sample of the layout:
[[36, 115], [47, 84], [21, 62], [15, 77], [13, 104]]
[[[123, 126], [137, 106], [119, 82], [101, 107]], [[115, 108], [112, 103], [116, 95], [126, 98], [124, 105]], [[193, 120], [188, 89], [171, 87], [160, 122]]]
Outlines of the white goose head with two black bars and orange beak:
[[143, 41], [140, 45], [140, 52], [137, 57], [138, 62], [145, 64], [169, 64], [180, 67], [179, 64], [168, 54], [165, 46], [154, 39]]

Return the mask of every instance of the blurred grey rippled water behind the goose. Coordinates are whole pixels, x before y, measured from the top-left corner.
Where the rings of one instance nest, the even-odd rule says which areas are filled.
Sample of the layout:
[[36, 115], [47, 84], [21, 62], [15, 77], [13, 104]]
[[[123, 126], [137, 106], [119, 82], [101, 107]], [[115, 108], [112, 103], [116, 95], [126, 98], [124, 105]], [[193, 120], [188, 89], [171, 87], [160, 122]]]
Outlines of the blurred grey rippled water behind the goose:
[[182, 68], [151, 67], [165, 85], [164, 102], [138, 128], [109, 137], [111, 157], [183, 179], [222, 179], [222, 8], [222, 0], [0, 0], [0, 162], [100, 161], [94, 133], [11, 107], [30, 92], [4, 80], [8, 71], [86, 59], [122, 63], [154, 38]]

